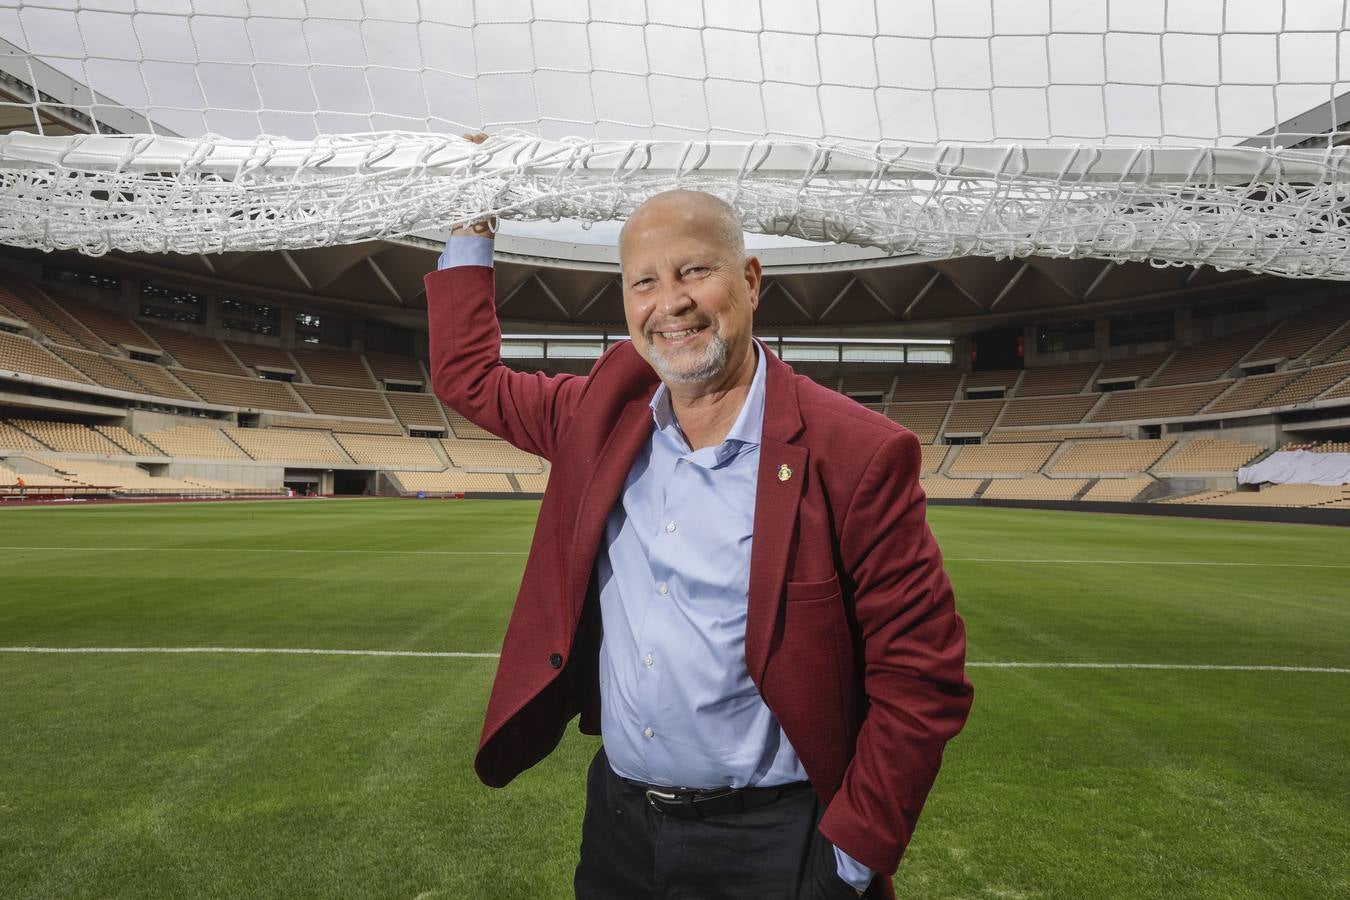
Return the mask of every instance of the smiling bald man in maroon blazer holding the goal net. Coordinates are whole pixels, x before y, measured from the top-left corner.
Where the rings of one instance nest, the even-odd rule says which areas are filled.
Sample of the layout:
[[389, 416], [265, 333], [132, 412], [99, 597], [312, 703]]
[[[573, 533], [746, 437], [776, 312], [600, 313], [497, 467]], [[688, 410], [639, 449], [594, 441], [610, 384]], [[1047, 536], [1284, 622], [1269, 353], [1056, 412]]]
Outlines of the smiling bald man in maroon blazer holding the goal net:
[[427, 277], [435, 389], [554, 464], [479, 777], [580, 714], [578, 896], [892, 897], [972, 694], [918, 441], [752, 339], [760, 264], [721, 200], [633, 213], [632, 340], [587, 376], [502, 366], [475, 228]]

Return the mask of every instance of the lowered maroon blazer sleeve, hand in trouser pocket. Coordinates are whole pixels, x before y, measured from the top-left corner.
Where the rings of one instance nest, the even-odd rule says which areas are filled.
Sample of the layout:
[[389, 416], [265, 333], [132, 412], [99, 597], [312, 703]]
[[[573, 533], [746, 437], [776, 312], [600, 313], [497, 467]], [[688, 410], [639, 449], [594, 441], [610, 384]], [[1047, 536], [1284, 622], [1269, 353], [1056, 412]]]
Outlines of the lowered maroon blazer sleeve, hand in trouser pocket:
[[863, 644], [868, 711], [819, 828], [892, 874], [971, 710], [965, 626], [956, 614], [918, 483], [919, 444], [896, 432], [872, 456], [840, 532]]

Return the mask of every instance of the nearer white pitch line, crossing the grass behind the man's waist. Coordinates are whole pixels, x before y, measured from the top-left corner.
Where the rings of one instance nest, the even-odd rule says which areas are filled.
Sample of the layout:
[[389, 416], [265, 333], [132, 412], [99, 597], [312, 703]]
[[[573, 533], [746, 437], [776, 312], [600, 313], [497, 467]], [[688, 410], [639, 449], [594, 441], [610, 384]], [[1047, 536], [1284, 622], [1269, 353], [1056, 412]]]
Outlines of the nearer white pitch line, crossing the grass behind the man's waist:
[[[0, 646], [0, 653], [261, 653], [289, 656], [409, 656], [495, 660], [497, 653], [462, 650], [339, 650], [285, 646]], [[1315, 672], [1350, 675], [1350, 668], [1319, 665], [1208, 665], [1184, 663], [967, 663], [972, 669], [1162, 669], [1179, 672]]]

